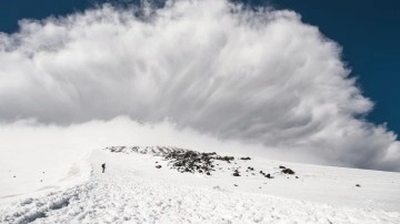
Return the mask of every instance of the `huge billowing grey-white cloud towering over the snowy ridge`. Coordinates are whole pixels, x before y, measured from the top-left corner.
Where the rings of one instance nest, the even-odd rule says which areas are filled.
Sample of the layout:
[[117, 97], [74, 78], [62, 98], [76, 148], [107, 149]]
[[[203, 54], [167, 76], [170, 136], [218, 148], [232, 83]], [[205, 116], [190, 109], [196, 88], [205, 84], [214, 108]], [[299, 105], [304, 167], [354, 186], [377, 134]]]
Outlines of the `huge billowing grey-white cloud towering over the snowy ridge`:
[[362, 119], [372, 103], [340, 47], [296, 12], [224, 0], [143, 11], [103, 6], [0, 34], [0, 120], [168, 119], [327, 164], [400, 171], [397, 136]]

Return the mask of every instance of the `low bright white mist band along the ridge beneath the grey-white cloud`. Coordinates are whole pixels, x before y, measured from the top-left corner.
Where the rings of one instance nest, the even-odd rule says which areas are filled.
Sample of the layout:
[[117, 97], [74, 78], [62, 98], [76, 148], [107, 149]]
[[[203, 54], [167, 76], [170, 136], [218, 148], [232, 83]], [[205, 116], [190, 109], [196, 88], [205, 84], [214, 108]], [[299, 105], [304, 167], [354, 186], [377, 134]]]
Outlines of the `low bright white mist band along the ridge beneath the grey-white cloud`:
[[279, 151], [261, 144], [221, 141], [196, 130], [178, 130], [176, 124], [167, 120], [157, 124], [140, 124], [127, 116], [117, 116], [110, 121], [92, 120], [68, 126], [19, 120], [0, 125], [0, 173], [42, 164], [47, 169], [64, 170], [94, 149], [116, 145], [178, 146], [200, 152], [233, 153], [237, 156], [261, 155], [286, 161], [301, 157], [310, 163], [322, 163], [319, 157], [303, 155], [301, 152], [294, 151], [283, 156]]

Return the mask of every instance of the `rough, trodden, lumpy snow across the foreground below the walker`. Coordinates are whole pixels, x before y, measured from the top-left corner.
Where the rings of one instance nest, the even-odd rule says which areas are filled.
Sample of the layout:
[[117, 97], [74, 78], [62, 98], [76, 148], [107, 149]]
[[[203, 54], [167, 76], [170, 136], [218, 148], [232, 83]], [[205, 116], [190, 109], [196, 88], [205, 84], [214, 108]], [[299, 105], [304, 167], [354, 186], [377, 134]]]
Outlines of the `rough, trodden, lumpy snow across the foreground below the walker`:
[[[92, 164], [94, 165], [94, 164]], [[117, 169], [0, 211], [1, 223], [400, 223], [398, 212], [184, 186]]]

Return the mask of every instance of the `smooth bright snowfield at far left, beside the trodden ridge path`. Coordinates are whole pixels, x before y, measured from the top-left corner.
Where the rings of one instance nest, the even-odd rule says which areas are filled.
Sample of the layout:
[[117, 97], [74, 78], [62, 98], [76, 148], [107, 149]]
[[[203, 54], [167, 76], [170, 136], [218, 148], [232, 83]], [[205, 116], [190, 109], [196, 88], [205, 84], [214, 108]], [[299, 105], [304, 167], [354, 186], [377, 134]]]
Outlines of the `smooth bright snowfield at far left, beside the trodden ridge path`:
[[16, 197], [62, 190], [89, 179], [90, 154], [58, 149], [1, 147], [0, 206]]

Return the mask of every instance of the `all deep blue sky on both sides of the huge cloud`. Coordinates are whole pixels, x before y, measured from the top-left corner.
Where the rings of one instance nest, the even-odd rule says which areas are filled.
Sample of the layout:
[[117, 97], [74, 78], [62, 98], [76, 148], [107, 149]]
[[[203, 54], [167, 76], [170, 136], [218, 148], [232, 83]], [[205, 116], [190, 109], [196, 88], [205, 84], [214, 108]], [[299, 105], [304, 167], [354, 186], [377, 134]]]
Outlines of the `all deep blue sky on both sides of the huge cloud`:
[[[18, 20], [43, 19], [82, 11], [98, 2], [84, 0], [13, 0], [0, 2], [0, 31], [14, 32]], [[249, 6], [267, 1], [246, 0]], [[293, 1], [271, 0], [268, 4], [278, 9], [291, 9], [307, 23], [319, 27], [328, 38], [343, 47], [343, 60], [359, 78], [364, 95], [374, 103], [368, 120], [400, 133], [400, 3], [394, 0], [379, 1]]]

